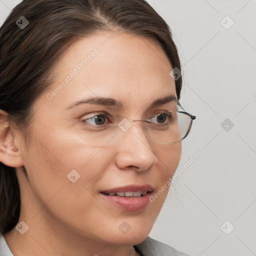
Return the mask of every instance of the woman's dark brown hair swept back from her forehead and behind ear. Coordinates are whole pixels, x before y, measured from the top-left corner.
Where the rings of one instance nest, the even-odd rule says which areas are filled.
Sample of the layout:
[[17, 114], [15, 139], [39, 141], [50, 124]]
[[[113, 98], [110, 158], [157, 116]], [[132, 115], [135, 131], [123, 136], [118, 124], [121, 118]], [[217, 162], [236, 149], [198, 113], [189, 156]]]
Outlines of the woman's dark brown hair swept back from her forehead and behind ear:
[[[29, 22], [23, 29], [16, 23], [21, 16]], [[145, 0], [23, 0], [12, 9], [0, 27], [0, 109], [25, 140], [32, 104], [51, 84], [58, 57], [79, 38], [115, 29], [154, 39], [171, 66], [181, 69], [169, 26]], [[181, 86], [180, 77], [178, 99]], [[0, 162], [0, 232], [11, 230], [19, 214], [15, 168]]]

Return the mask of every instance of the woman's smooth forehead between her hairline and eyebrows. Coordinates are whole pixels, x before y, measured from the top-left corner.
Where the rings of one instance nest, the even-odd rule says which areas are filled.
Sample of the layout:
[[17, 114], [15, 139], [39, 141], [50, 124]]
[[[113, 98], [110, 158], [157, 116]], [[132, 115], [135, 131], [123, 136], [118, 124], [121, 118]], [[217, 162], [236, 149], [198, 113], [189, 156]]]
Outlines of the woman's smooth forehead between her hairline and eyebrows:
[[85, 96], [100, 96], [118, 98], [124, 107], [138, 105], [176, 95], [171, 69], [154, 40], [126, 32], [98, 32], [74, 42], [60, 56], [50, 90], [76, 70], [55, 101], [64, 99], [69, 105]]

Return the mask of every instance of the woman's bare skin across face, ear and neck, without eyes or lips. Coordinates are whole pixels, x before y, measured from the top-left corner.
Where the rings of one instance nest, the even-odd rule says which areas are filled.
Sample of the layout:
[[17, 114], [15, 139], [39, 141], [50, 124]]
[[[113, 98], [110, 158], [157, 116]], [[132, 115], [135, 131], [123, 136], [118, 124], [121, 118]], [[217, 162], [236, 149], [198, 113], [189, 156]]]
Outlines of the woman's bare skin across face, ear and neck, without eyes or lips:
[[[95, 57], [49, 100], [47, 93], [94, 48], [99, 50]], [[87, 142], [81, 119], [100, 111], [118, 120], [147, 119], [175, 110], [176, 102], [146, 110], [157, 98], [176, 96], [171, 69], [154, 41], [101, 31], [76, 41], [61, 56], [52, 86], [33, 104], [27, 151], [22, 132], [0, 111], [0, 161], [16, 168], [21, 192], [19, 221], [29, 226], [24, 234], [16, 228], [4, 234], [15, 256], [136, 255], [132, 245], [150, 232], [167, 189], [138, 211], [114, 206], [99, 191], [128, 184], [151, 184], [157, 191], [177, 168], [181, 142], [152, 143], [141, 129], [142, 122], [134, 122], [126, 133], [121, 131], [116, 139], [96, 147]], [[66, 109], [74, 101], [95, 95], [118, 99], [124, 107], [83, 104]], [[66, 176], [72, 169], [80, 174], [74, 183]], [[131, 227], [125, 234], [118, 228], [123, 221]]]

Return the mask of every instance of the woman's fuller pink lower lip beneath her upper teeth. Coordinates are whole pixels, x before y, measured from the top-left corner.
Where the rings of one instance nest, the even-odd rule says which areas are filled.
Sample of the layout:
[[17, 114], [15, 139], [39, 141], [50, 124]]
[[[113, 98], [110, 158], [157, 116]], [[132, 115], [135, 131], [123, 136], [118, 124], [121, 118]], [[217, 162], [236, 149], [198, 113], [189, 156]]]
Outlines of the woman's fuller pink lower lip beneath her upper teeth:
[[152, 192], [147, 192], [143, 196], [118, 196], [100, 193], [103, 198], [121, 209], [135, 211], [144, 208], [149, 203]]

